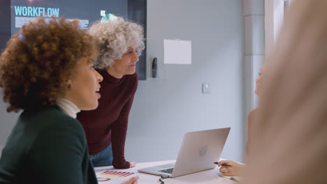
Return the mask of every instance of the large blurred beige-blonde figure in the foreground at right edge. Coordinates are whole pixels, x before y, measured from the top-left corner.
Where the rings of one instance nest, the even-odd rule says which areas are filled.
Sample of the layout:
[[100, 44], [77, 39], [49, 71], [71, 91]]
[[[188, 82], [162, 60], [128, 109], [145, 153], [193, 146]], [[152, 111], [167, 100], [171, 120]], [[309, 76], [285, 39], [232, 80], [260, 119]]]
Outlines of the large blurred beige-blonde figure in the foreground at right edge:
[[327, 183], [327, 1], [296, 0], [269, 56], [246, 184]]

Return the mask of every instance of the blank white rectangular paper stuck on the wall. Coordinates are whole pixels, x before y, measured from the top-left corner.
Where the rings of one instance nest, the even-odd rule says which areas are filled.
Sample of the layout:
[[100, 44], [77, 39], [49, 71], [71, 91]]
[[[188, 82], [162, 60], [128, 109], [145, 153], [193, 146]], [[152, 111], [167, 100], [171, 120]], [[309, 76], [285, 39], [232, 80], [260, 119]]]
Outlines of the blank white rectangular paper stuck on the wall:
[[190, 40], [163, 40], [163, 63], [190, 65], [191, 60]]

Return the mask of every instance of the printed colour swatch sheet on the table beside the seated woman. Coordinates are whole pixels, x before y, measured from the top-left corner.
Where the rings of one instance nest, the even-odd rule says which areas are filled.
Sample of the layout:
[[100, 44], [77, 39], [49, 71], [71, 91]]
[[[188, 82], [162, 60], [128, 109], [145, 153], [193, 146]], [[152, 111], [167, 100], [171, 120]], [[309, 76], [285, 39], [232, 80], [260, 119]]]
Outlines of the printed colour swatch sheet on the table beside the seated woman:
[[115, 170], [102, 170], [96, 172], [96, 178], [98, 179], [98, 183], [105, 184], [118, 184], [122, 183], [129, 178], [136, 176], [136, 174], [131, 172], [122, 172], [122, 171], [115, 171]]

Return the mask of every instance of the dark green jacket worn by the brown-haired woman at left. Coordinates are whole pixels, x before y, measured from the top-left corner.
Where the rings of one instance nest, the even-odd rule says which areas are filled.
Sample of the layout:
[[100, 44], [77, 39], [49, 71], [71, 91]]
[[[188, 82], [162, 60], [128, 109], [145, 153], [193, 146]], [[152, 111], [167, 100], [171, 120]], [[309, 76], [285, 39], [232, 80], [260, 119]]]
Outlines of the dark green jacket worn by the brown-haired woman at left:
[[23, 112], [2, 151], [0, 183], [97, 183], [82, 125], [58, 107]]

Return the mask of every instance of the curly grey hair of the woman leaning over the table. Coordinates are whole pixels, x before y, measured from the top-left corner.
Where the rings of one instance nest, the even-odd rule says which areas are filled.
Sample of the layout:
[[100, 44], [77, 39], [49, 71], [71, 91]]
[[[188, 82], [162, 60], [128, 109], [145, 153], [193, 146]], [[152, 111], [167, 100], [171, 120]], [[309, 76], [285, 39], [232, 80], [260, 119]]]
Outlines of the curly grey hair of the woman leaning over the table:
[[143, 27], [134, 22], [125, 21], [122, 17], [117, 20], [95, 22], [89, 28], [89, 34], [98, 40], [99, 56], [94, 61], [94, 66], [105, 69], [121, 59], [128, 51], [131, 43], [136, 45], [136, 53], [145, 48]]

